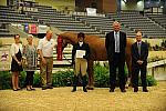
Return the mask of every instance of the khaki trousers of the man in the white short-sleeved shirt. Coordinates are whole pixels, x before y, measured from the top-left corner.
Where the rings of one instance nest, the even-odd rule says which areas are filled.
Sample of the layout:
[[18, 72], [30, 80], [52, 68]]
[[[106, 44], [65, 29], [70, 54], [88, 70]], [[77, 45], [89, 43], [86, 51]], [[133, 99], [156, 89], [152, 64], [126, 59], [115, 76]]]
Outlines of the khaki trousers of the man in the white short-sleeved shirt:
[[40, 71], [41, 71], [41, 81], [42, 87], [52, 84], [52, 68], [53, 68], [53, 58], [44, 58], [46, 64], [40, 62]]

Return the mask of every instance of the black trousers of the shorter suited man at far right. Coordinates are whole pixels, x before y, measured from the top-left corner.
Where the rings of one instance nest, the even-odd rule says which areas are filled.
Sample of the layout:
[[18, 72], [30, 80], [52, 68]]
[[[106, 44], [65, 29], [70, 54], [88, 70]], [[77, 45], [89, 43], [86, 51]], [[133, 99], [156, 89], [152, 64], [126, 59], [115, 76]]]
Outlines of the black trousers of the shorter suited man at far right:
[[133, 87], [134, 88], [138, 88], [138, 74], [139, 74], [139, 71], [141, 71], [141, 80], [142, 80], [142, 87], [143, 89], [146, 89], [147, 87], [147, 83], [146, 83], [146, 72], [147, 72], [147, 69], [146, 69], [146, 65], [133, 65], [133, 72], [132, 72], [132, 75], [133, 75]]

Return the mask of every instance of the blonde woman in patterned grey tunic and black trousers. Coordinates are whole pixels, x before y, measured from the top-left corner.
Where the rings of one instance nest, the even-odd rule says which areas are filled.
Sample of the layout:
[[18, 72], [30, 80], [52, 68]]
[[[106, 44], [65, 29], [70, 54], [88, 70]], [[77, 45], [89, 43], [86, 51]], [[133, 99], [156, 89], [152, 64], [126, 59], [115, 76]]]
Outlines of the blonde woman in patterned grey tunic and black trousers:
[[33, 44], [33, 36], [29, 34], [27, 38], [28, 44], [23, 48], [23, 58], [27, 61], [24, 70], [27, 71], [25, 85], [28, 91], [35, 90], [32, 88], [33, 74], [37, 68], [37, 47]]

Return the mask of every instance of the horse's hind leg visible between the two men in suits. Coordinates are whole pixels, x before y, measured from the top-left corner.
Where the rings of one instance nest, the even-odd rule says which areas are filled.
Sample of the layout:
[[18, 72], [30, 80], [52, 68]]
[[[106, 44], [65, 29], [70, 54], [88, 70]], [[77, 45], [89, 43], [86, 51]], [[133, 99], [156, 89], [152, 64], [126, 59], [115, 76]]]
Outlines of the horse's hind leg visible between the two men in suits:
[[126, 87], [131, 87], [132, 85], [132, 57], [131, 56], [126, 57], [126, 64], [127, 64], [127, 69], [128, 69]]

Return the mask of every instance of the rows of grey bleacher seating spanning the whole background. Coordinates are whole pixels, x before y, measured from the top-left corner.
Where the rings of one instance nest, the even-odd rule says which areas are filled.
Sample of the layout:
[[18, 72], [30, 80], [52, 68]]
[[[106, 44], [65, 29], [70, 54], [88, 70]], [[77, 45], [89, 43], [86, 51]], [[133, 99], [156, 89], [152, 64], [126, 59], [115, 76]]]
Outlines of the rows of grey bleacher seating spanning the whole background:
[[24, 11], [20, 13], [9, 7], [0, 7], [0, 23], [38, 23], [59, 28], [62, 31], [84, 32], [105, 37], [105, 33], [113, 30], [113, 21], [122, 23], [122, 31], [127, 37], [135, 37], [136, 30], [142, 30], [145, 37], [166, 37], [165, 14], [143, 17], [138, 11], [122, 11], [108, 13], [106, 17], [87, 17], [77, 14], [65, 14], [52, 7], [35, 4], [38, 11]]

